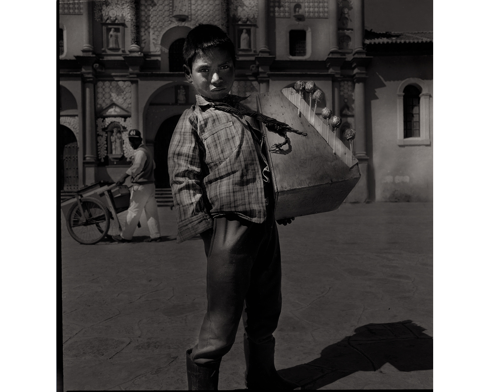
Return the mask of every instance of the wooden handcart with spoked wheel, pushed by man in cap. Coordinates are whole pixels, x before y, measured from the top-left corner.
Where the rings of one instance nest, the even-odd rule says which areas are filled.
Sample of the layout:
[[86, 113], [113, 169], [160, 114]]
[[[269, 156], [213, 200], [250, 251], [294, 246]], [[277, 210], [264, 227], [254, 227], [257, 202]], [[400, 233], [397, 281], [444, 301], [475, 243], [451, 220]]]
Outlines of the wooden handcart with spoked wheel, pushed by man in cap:
[[61, 203], [68, 232], [80, 244], [96, 244], [107, 235], [112, 220], [121, 233], [117, 214], [128, 209], [130, 196], [125, 185], [98, 182], [80, 189]]

